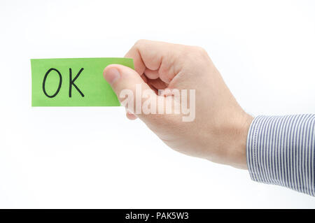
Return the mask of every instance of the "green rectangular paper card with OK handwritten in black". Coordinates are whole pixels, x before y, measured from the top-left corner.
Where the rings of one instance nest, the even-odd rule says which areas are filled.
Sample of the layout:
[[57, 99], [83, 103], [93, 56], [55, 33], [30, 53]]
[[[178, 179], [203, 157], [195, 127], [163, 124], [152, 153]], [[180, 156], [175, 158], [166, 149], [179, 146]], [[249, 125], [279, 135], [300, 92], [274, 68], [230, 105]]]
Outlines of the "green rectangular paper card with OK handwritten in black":
[[120, 106], [103, 78], [109, 64], [134, 69], [129, 58], [31, 59], [31, 106]]

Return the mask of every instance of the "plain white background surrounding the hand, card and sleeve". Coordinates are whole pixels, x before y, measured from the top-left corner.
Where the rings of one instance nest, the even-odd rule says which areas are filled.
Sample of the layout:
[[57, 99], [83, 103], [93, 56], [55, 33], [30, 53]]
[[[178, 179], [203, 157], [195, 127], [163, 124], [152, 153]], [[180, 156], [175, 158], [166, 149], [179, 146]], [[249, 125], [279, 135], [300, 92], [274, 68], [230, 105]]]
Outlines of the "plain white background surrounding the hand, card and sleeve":
[[0, 30], [0, 208], [315, 208], [174, 152], [124, 108], [31, 108], [29, 62], [200, 45], [251, 115], [315, 113], [314, 1], [1, 0]]

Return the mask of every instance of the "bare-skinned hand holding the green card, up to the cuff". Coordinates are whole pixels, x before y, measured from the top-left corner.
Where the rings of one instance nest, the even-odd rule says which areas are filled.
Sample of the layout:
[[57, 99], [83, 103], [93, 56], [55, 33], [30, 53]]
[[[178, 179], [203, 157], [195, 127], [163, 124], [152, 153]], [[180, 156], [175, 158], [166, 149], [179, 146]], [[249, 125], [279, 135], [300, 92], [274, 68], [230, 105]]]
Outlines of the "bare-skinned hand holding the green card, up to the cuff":
[[181, 114], [134, 115], [129, 110], [130, 120], [139, 117], [176, 151], [247, 169], [246, 138], [253, 117], [239, 106], [204, 49], [140, 40], [125, 57], [134, 59], [135, 70], [119, 64], [104, 69], [104, 78], [120, 101], [125, 99], [120, 98], [120, 91], [135, 92], [137, 84], [151, 94], [157, 94], [157, 89], [196, 90], [193, 122], [182, 122]]

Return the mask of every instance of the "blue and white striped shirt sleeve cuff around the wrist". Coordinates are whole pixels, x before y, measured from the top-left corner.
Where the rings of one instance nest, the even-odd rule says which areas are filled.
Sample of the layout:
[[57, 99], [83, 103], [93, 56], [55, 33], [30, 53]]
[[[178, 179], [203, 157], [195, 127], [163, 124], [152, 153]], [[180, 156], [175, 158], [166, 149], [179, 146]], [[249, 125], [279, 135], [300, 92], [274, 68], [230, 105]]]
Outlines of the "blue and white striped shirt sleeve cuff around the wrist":
[[315, 196], [315, 115], [258, 116], [246, 144], [251, 179]]

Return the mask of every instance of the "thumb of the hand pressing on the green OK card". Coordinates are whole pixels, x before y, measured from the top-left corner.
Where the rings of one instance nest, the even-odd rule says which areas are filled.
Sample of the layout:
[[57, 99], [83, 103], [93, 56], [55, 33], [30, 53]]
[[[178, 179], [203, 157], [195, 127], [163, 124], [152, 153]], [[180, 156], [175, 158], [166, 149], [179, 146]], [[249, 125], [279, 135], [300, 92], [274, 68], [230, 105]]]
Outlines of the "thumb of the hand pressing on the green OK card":
[[[158, 97], [153, 89], [144, 82], [139, 73], [127, 66], [111, 64], [106, 66], [103, 75], [118, 96], [120, 103], [140, 118], [144, 117], [142, 104], [146, 101], [146, 98], [148, 96]], [[144, 92], [145, 97], [142, 96]]]

